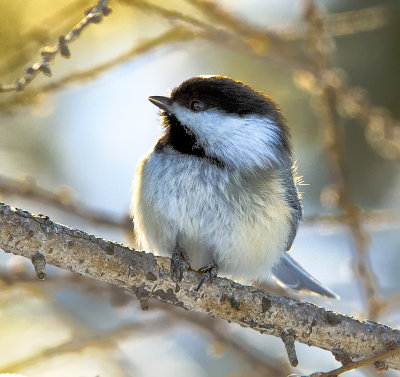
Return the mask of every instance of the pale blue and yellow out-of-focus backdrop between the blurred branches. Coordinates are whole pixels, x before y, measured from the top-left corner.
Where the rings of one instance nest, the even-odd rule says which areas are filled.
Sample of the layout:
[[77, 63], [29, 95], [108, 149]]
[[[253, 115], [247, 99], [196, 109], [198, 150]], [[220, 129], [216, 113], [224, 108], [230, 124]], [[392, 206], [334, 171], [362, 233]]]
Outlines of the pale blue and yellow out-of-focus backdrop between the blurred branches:
[[[160, 5], [201, 17], [187, 3], [175, 0], [168, 4], [160, 2]], [[279, 27], [302, 19], [300, 1], [218, 3], [260, 27]], [[21, 75], [24, 66], [38, 59], [39, 46], [56, 41], [58, 34], [52, 35], [52, 28], [57, 26], [57, 30], [63, 30], [58, 33], [65, 33], [80, 20], [79, 10], [88, 5], [85, 1], [56, 4], [47, 0], [12, 3], [1, 0], [0, 4], [3, 9], [0, 13], [0, 82], [12, 81]], [[69, 13], [57, 14], [68, 4], [73, 5]], [[333, 64], [343, 69], [349, 86], [365, 88], [371, 103], [385, 107], [398, 119], [397, 3], [353, 1], [349, 4], [337, 0], [320, 4], [329, 13], [378, 4], [390, 9], [391, 17], [382, 26], [335, 38]], [[51, 67], [53, 77], [38, 77], [32, 87], [119, 56], [143, 38], [156, 36], [169, 27], [160, 17], [139, 12], [123, 2], [111, 2], [111, 6], [110, 17], [100, 25], [90, 25], [71, 45], [71, 59], [57, 57]], [[53, 14], [63, 19], [65, 26], [58, 25]], [[34, 53], [28, 50], [21, 57], [18, 49], [27, 44], [30, 36], [34, 39], [34, 34], [29, 34], [32, 28], [42, 30], [42, 39], [35, 37], [33, 43], [38, 48]], [[18, 58], [7, 66], [15, 54]], [[66, 185], [87, 207], [110, 216], [125, 216], [135, 166], [161, 133], [157, 109], [147, 97], [165, 95], [183, 80], [201, 74], [222, 74], [245, 81], [280, 104], [292, 131], [299, 173], [307, 184], [301, 187], [305, 215], [337, 213], [337, 209], [321, 201], [321, 193], [334, 182], [323, 150], [320, 118], [313, 112], [310, 95], [296, 86], [293, 77], [279, 64], [209, 41], [162, 46], [115, 66], [95, 80], [44, 94], [34, 106], [3, 111], [0, 113], [0, 175], [14, 179], [29, 175], [35, 177], [38, 185], [50, 190]], [[345, 120], [344, 130], [345, 162], [354, 202], [364, 209], [399, 208], [398, 160], [385, 159], [371, 147], [362, 122]], [[0, 197], [9, 204], [45, 213], [56, 221], [98, 236], [128, 242], [122, 231], [95, 227], [51, 206], [19, 196], [1, 196], [1, 192]], [[398, 228], [398, 223], [367, 228], [371, 236], [369, 257], [383, 296], [399, 291]], [[307, 270], [342, 297], [338, 302], [304, 295], [300, 298], [364, 318], [362, 290], [351, 266], [352, 240], [345, 226], [301, 227], [292, 252]], [[0, 253], [0, 263], [3, 271], [12, 271], [21, 269], [24, 262]], [[56, 269], [51, 272], [58, 273]], [[13, 371], [26, 376], [257, 375], [229, 346], [223, 347], [210, 334], [187, 323], [175, 323], [171, 328], [148, 334], [144, 328], [142, 332], [117, 336], [113, 347], [93, 343], [27, 362], [32, 355], [74, 339], [77, 333], [100, 334], [135, 321], [146, 324], [158, 314], [140, 313], [134, 300], [122, 307], [115, 306], [98, 294], [82, 292], [68, 284], [44, 291], [37, 285], [21, 282], [12, 285], [0, 282], [0, 287], [0, 371], [20, 361], [20, 369]], [[386, 312], [379, 320], [395, 327], [400, 323], [396, 310]], [[279, 340], [232, 324], [219, 323], [219, 326], [235, 339], [242, 339], [243, 344], [248, 342], [261, 354], [274, 357], [276, 364], [280, 360], [286, 362]], [[303, 345], [296, 347], [300, 360], [296, 373], [338, 366], [327, 352]], [[361, 372], [353, 375], [356, 374]]]

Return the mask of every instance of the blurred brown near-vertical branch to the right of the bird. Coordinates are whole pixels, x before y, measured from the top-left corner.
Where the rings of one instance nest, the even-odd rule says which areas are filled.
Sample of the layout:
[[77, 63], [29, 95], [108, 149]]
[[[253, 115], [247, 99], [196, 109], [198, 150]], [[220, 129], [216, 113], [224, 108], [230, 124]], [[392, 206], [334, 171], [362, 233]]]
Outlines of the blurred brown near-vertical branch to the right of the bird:
[[381, 299], [378, 296], [376, 278], [368, 259], [369, 236], [362, 227], [360, 211], [352, 201], [345, 163], [343, 129], [337, 110], [339, 94], [329, 80], [330, 58], [334, 42], [327, 33], [323, 19], [313, 0], [306, 2], [304, 18], [308, 23], [307, 42], [310, 55], [313, 56], [318, 65], [316, 80], [320, 90], [317, 99], [320, 105], [318, 115], [322, 120], [325, 131], [323, 145], [337, 186], [338, 205], [345, 215], [355, 244], [354, 269], [361, 282], [367, 302], [367, 317], [376, 319], [380, 312]]

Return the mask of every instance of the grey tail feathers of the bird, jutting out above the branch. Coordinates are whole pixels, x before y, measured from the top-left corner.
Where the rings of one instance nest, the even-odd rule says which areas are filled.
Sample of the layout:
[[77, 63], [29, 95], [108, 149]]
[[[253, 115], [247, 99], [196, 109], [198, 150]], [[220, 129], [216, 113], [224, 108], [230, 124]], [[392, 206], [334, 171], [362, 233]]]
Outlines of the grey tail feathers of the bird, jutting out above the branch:
[[300, 292], [317, 293], [338, 299], [339, 296], [312, 277], [288, 253], [284, 253], [274, 266], [272, 274], [278, 283]]

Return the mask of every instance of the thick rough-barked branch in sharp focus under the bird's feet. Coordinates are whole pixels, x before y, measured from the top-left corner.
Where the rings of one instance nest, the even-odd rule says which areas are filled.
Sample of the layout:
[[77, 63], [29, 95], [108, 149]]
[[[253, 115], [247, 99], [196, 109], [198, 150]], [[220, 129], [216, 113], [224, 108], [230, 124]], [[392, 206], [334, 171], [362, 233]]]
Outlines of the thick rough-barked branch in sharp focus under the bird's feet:
[[[329, 351], [340, 348], [351, 359], [368, 358], [387, 350], [387, 342], [400, 343], [400, 331], [373, 322], [326, 311], [313, 304], [216, 278], [197, 292], [201, 276], [186, 271], [176, 283], [171, 260], [134, 251], [83, 231], [54, 223], [47, 216], [31, 215], [0, 205], [0, 247], [31, 259], [39, 251], [48, 264], [114, 284], [136, 294], [187, 310], [251, 327], [261, 333], [293, 339]], [[400, 369], [400, 358], [387, 360]]]

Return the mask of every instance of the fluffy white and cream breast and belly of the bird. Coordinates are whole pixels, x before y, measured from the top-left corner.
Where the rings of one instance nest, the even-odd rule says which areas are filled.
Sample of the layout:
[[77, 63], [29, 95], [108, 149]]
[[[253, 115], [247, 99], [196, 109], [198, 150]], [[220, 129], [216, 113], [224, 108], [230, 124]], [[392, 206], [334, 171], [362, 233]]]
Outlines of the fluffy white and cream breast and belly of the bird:
[[138, 247], [171, 255], [178, 242], [193, 268], [214, 261], [219, 274], [265, 279], [290, 229], [279, 177], [265, 182], [267, 200], [255, 201], [249, 190], [232, 200], [232, 172], [205, 161], [169, 149], [140, 162], [131, 208]]

